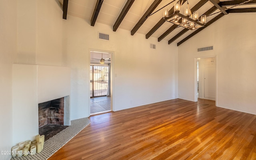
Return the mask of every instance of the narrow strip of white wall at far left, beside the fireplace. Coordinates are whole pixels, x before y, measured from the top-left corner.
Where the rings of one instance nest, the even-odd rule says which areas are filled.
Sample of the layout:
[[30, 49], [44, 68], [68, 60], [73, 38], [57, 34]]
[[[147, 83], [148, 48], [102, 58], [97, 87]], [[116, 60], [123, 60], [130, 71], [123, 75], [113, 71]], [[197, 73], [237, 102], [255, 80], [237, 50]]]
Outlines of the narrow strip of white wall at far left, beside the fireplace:
[[[16, 53], [16, 0], [0, 0], [0, 151], [12, 147], [12, 54]], [[9, 160], [10, 155], [1, 155]]]

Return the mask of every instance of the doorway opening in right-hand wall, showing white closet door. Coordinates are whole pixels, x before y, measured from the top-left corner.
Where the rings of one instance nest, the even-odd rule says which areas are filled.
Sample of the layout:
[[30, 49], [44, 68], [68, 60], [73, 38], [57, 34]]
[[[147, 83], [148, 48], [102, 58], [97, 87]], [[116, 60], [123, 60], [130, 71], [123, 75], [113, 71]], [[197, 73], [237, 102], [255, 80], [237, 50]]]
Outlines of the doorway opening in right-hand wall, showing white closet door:
[[216, 57], [197, 58], [197, 98], [216, 100]]

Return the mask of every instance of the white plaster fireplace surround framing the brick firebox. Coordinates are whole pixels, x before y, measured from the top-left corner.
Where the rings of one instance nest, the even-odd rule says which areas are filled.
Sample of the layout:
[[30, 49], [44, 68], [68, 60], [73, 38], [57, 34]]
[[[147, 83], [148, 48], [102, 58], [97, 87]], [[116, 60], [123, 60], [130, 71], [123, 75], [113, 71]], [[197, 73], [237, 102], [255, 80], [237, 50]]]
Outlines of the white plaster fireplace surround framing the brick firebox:
[[38, 134], [38, 104], [65, 98], [64, 125], [70, 125], [70, 68], [12, 65], [13, 145]]

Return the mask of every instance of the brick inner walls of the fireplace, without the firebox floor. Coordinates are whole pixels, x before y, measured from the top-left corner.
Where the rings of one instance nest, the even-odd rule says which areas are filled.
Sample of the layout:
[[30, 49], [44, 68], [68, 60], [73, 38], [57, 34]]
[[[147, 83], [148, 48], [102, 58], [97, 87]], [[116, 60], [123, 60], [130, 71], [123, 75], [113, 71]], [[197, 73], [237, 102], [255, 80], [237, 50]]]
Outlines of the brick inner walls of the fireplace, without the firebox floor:
[[38, 104], [39, 128], [46, 124], [64, 125], [64, 97]]

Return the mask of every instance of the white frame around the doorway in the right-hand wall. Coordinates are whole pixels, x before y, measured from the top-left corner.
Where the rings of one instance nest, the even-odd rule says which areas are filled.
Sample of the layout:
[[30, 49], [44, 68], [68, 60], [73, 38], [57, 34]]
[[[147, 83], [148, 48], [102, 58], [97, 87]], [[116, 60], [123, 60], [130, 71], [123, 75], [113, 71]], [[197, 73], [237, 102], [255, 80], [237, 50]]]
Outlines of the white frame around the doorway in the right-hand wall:
[[217, 65], [217, 55], [212, 55], [212, 56], [199, 56], [194, 58], [194, 102], [197, 102], [197, 59], [198, 58], [215, 58], [215, 106], [217, 106], [218, 102], [218, 90], [217, 90], [217, 72], [218, 72], [218, 65]]

